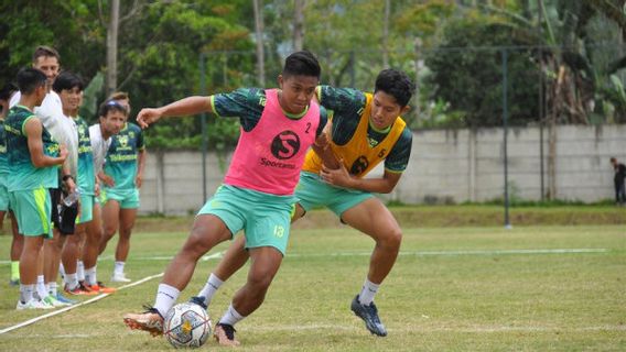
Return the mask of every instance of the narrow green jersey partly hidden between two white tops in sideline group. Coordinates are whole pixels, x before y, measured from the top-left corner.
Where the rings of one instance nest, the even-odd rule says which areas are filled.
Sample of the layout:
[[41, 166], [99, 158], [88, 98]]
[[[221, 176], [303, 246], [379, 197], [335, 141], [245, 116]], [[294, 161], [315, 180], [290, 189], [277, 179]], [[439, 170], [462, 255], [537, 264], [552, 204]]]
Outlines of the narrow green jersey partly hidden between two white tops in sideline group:
[[96, 190], [96, 172], [94, 168], [94, 154], [89, 139], [89, 125], [83, 118], [76, 118], [78, 130], [78, 175], [76, 184], [83, 195], [93, 196]]

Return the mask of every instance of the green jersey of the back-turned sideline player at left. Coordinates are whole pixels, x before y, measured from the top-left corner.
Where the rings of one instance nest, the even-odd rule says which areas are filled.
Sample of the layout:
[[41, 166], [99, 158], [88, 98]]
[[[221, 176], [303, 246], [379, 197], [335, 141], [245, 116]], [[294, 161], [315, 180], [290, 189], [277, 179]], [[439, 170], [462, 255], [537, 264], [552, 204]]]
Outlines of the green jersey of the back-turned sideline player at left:
[[[14, 106], [9, 110], [4, 130], [7, 133], [7, 156], [9, 161], [9, 191], [58, 187], [58, 166], [35, 167], [31, 161], [25, 124], [30, 119], [37, 119], [28, 108]], [[51, 157], [58, 156], [58, 143], [52, 139], [42, 124], [43, 153]]]

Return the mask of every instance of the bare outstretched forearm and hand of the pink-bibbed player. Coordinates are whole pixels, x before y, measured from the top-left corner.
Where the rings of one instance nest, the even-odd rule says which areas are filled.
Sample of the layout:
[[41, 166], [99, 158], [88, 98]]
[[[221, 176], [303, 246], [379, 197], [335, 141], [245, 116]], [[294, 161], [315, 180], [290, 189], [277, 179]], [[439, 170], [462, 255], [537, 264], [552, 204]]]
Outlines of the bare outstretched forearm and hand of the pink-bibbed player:
[[212, 111], [211, 100], [207, 97], [188, 97], [161, 108], [141, 109], [137, 116], [137, 123], [145, 129], [161, 118], [184, 117]]

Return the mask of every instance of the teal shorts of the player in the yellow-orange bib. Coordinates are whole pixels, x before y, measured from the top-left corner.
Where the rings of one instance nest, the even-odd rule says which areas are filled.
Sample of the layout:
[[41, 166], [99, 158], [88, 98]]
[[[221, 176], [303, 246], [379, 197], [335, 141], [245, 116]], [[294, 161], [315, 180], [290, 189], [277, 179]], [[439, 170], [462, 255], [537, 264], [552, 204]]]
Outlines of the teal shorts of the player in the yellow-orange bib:
[[326, 207], [341, 218], [344, 211], [374, 196], [367, 191], [335, 187], [325, 183], [317, 174], [301, 172], [295, 197], [305, 211]]

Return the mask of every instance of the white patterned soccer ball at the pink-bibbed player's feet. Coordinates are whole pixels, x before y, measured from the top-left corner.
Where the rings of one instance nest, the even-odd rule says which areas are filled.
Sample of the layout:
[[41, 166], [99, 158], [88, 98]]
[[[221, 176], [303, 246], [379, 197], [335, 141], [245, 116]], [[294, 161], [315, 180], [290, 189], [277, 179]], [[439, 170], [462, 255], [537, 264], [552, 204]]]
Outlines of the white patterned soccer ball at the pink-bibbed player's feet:
[[177, 304], [165, 315], [163, 334], [176, 349], [199, 348], [211, 336], [208, 312], [196, 304]]

